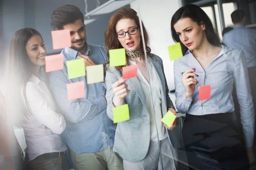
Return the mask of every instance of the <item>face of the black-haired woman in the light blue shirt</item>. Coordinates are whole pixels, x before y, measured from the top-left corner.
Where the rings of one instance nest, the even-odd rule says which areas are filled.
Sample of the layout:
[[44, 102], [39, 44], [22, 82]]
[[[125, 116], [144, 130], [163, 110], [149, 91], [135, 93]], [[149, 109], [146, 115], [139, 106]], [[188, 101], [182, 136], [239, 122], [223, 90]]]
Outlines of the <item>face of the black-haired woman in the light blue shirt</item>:
[[204, 33], [205, 25], [198, 25], [190, 18], [182, 18], [174, 24], [176, 33], [179, 35], [180, 41], [189, 50], [198, 49], [206, 38]]

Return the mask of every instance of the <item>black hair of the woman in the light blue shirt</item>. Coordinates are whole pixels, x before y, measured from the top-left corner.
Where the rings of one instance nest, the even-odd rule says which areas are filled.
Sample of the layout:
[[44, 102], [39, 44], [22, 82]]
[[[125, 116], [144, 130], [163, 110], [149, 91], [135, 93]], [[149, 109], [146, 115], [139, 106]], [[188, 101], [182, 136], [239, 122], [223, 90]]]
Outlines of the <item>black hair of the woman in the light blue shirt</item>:
[[183, 55], [188, 51], [188, 48], [180, 41], [180, 38], [178, 34], [176, 34], [174, 24], [178, 22], [178, 20], [183, 18], [190, 18], [192, 21], [196, 22], [198, 25], [201, 25], [202, 23], [205, 24], [205, 34], [207, 37], [207, 40], [210, 44], [218, 46], [223, 45], [223, 42], [219, 38], [218, 34], [216, 33], [212, 21], [209, 19], [208, 15], [204, 12], [202, 8], [199, 6], [188, 4], [181, 8], [179, 8], [175, 14], [172, 16], [171, 21], [171, 31], [172, 31], [172, 39], [175, 42], [180, 42], [181, 49]]

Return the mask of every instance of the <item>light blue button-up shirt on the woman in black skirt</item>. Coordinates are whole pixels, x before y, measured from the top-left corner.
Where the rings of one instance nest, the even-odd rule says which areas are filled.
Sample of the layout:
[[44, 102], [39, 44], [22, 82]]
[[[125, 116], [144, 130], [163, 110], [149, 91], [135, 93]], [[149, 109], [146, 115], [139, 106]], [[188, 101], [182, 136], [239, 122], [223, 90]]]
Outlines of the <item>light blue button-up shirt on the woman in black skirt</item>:
[[[232, 97], [235, 82], [237, 97], [240, 104], [241, 123], [247, 147], [253, 146], [254, 107], [250, 91], [250, 83], [244, 53], [224, 45], [218, 56], [204, 70], [191, 51], [174, 62], [176, 108], [180, 113], [191, 115], [207, 115], [229, 113], [234, 111]], [[185, 96], [182, 82], [183, 73], [195, 68], [199, 77], [198, 85], [192, 98]], [[198, 101], [198, 87], [211, 85], [211, 99]]]

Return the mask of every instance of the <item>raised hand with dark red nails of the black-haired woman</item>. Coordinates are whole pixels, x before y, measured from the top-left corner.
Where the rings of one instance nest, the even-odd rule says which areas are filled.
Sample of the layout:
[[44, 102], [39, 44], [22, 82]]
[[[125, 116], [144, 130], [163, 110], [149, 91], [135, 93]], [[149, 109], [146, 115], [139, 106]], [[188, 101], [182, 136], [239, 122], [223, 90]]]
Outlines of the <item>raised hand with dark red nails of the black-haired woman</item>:
[[194, 78], [194, 77], [198, 77], [198, 75], [195, 74], [194, 72], [195, 72], [195, 68], [192, 68], [192, 69], [187, 70], [183, 74], [182, 82], [186, 88], [185, 96], [187, 99], [192, 97], [192, 95], [195, 91], [195, 85], [198, 84], [198, 81]]

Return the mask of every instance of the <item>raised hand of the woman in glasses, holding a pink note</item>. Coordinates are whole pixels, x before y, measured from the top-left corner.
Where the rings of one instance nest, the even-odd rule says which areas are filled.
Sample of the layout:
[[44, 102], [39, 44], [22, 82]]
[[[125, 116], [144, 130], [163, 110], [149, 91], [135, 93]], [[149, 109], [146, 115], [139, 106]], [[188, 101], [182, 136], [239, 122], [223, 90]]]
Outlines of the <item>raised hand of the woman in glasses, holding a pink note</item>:
[[130, 91], [128, 90], [128, 85], [125, 84], [125, 81], [128, 79], [119, 79], [112, 85], [113, 93], [115, 96], [113, 97], [113, 104], [115, 107], [121, 106], [125, 102], [125, 96], [127, 96]]

